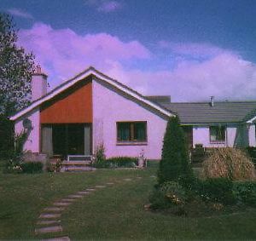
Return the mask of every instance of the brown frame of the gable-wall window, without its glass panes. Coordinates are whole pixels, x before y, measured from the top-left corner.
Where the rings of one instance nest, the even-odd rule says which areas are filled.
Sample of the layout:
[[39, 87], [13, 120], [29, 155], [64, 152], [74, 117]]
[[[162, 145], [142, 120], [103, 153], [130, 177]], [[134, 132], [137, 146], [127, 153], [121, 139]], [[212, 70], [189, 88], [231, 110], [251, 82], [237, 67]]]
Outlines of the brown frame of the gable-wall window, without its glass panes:
[[[128, 123], [130, 126], [130, 140], [119, 140], [119, 123]], [[135, 123], [144, 123], [145, 124], [145, 140], [136, 140], [134, 139], [135, 135]], [[118, 121], [116, 122], [116, 143], [117, 145], [148, 145], [148, 122], [147, 121]]]

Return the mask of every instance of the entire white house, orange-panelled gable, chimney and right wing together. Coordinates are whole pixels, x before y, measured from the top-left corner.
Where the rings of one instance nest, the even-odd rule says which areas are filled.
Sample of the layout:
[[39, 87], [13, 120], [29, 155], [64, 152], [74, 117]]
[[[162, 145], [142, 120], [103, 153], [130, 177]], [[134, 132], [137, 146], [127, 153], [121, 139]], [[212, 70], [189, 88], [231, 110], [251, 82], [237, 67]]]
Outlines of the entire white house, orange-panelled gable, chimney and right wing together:
[[28, 132], [26, 150], [49, 156], [106, 156], [141, 152], [160, 159], [169, 117], [178, 114], [189, 146], [256, 146], [256, 101], [172, 103], [170, 96], [143, 96], [90, 67], [47, 93], [40, 67], [32, 76], [32, 103], [10, 119]]

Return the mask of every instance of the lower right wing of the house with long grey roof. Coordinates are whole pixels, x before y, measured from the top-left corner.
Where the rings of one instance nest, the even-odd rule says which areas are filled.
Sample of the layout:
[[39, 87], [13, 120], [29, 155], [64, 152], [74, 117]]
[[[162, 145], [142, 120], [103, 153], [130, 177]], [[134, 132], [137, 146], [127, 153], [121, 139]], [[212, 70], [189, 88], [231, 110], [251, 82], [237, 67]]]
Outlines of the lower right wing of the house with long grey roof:
[[256, 146], [256, 101], [214, 101], [174, 103], [154, 96], [148, 100], [177, 113], [189, 147]]

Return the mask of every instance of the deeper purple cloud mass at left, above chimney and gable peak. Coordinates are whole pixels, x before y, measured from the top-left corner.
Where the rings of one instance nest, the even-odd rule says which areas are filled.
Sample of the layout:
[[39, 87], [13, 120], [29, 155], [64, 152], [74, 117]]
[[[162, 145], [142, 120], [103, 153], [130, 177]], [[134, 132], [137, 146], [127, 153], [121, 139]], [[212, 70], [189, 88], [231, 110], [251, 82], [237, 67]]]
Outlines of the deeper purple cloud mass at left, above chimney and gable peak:
[[70, 29], [55, 30], [37, 23], [29, 30], [20, 30], [20, 45], [32, 50], [38, 62], [49, 73], [51, 85], [73, 77], [87, 66], [108, 70], [114, 61], [149, 59], [151, 53], [134, 40], [122, 42], [107, 33], [78, 35]]

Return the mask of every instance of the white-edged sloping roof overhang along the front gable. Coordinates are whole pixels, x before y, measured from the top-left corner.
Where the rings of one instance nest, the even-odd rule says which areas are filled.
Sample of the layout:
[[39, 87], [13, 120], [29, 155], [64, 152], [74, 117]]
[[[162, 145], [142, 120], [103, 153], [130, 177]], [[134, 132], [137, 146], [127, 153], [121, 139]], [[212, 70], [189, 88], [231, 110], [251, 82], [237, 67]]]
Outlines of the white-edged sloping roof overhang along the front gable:
[[25, 109], [21, 110], [20, 112], [15, 113], [14, 116], [10, 118], [10, 120], [15, 121], [18, 118], [24, 116], [26, 113], [31, 112], [33, 109], [37, 108], [41, 104], [43, 104], [45, 101], [51, 100], [56, 95], [59, 95], [64, 90], [72, 87], [75, 83], [78, 83], [79, 81], [83, 80], [86, 77], [96, 77], [98, 80], [103, 81], [105, 83], [111, 84], [113, 87], [119, 89], [120, 91], [124, 92], [126, 95], [130, 95], [136, 100], [142, 101], [144, 104], [154, 108], [156, 111], [159, 111], [161, 114], [165, 115], [166, 117], [174, 116], [172, 112], [166, 110], [165, 108], [158, 106], [154, 104], [154, 102], [151, 102], [150, 100], [147, 100], [143, 95], [138, 94], [136, 91], [128, 88], [122, 83], [119, 83], [118, 81], [114, 80], [111, 77], [108, 77], [104, 75], [102, 72], [98, 72], [94, 67], [89, 67], [84, 72], [79, 73], [79, 75], [67, 80], [65, 83], [61, 84], [60, 87], [57, 87], [49, 92], [49, 94], [44, 95], [42, 98], [35, 100], [32, 102], [30, 106], [27, 106]]

